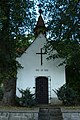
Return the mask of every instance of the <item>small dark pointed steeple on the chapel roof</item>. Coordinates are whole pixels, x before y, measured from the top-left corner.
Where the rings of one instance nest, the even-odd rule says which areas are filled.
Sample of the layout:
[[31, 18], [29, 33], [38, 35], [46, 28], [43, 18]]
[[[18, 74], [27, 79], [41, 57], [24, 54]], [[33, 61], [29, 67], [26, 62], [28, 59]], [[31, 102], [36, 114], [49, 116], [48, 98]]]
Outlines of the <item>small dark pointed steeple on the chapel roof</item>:
[[45, 27], [43, 18], [41, 16], [41, 14], [42, 14], [41, 9], [39, 10], [39, 13], [40, 13], [40, 16], [38, 18], [37, 25], [34, 28], [35, 37], [37, 37], [40, 33], [44, 34], [45, 37], [46, 37], [46, 27]]

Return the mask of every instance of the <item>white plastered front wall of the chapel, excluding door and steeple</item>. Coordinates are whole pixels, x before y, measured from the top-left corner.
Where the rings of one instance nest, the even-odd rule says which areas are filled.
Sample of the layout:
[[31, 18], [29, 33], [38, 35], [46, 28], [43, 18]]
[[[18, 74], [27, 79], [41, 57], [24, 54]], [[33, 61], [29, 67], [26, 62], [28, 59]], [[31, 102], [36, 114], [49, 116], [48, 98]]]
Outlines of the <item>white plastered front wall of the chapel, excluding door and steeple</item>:
[[[36, 40], [28, 47], [25, 53], [17, 60], [22, 65], [23, 69], [18, 70], [17, 88], [26, 89], [30, 87], [34, 92], [35, 78], [38, 76], [46, 76], [51, 79], [51, 88], [57, 89], [65, 83], [65, 66], [58, 67], [62, 59], [47, 60], [47, 54], [42, 57], [41, 65], [41, 48], [46, 44], [46, 38], [43, 34], [39, 34]], [[44, 53], [44, 49], [42, 50]], [[18, 93], [18, 92], [17, 92]]]

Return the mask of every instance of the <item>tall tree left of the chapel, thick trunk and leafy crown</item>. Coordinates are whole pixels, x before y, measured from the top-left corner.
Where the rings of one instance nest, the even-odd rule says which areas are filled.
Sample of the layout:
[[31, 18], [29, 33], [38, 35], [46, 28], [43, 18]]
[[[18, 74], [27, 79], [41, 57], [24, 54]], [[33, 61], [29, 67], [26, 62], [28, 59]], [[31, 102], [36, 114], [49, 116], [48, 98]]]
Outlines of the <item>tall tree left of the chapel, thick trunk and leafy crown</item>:
[[[14, 105], [16, 97], [16, 46], [26, 30], [35, 23], [34, 2], [26, 0], [0, 1], [0, 80], [3, 82], [3, 105]], [[32, 24], [32, 26], [31, 26]]]

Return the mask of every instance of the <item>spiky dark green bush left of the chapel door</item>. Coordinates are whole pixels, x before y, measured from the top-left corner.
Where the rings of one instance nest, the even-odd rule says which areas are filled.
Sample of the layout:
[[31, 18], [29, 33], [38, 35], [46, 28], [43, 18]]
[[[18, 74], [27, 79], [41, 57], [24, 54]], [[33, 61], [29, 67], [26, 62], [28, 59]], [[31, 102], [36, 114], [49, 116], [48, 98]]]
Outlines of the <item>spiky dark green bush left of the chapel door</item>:
[[26, 90], [19, 89], [19, 92], [21, 93], [21, 97], [17, 97], [17, 100], [20, 106], [31, 107], [35, 105], [34, 94], [31, 93], [30, 88], [27, 88]]

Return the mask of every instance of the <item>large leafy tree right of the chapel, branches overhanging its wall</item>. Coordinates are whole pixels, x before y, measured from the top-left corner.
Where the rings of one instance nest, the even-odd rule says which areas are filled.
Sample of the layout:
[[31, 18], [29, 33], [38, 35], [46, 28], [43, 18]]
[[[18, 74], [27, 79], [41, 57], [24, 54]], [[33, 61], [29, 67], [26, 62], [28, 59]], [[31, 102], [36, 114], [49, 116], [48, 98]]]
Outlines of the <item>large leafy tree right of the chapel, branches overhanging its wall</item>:
[[61, 64], [66, 64], [67, 82], [80, 94], [80, 1], [45, 1], [41, 7], [48, 19], [48, 59], [64, 58]]

